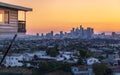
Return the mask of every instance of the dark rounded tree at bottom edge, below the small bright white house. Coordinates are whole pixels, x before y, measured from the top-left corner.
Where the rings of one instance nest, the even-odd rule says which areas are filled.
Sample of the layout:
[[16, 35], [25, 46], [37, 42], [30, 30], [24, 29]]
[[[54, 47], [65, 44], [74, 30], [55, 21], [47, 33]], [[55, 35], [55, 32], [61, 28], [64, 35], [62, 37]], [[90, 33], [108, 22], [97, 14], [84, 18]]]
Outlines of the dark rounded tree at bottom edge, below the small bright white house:
[[112, 70], [103, 63], [95, 63], [92, 67], [95, 75], [112, 75]]

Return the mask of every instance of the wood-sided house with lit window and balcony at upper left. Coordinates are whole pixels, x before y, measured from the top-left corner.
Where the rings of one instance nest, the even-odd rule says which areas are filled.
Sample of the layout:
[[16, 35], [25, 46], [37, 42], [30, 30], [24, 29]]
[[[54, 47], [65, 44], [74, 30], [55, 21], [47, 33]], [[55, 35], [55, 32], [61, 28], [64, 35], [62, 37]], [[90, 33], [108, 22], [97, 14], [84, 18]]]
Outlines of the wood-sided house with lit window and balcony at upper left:
[[[18, 12], [24, 12], [24, 20], [18, 20]], [[26, 12], [31, 8], [0, 2], [0, 34], [26, 33]]]

